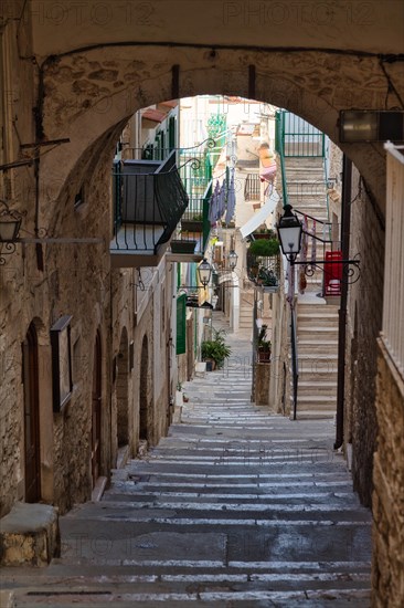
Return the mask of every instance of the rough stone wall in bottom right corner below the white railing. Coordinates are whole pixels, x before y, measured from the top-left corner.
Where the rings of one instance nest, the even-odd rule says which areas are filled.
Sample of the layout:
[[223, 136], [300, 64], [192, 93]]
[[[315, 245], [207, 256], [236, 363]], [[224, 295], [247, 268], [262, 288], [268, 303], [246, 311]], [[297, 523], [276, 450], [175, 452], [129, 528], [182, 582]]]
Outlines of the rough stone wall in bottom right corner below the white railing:
[[404, 605], [404, 380], [379, 340], [374, 454], [373, 564], [374, 608]]

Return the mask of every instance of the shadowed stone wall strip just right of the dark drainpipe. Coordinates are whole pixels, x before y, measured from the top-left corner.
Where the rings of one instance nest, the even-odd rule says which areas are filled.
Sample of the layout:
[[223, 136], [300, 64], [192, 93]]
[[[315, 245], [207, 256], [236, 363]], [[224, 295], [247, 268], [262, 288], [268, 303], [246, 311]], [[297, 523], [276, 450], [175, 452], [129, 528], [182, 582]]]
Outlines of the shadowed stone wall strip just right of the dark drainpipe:
[[353, 485], [363, 504], [372, 495], [375, 417], [376, 339], [382, 324], [384, 227], [378, 205], [353, 167], [351, 258], [360, 253], [361, 276], [349, 287], [345, 350], [344, 439], [352, 445]]

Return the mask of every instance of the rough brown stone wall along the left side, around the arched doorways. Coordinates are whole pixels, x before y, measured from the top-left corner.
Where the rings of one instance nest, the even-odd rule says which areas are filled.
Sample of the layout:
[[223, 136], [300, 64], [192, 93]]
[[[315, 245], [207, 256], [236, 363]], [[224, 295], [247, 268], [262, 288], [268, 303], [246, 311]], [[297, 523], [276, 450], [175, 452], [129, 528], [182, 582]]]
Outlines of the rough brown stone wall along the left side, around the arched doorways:
[[[22, 10], [22, 6], [21, 6]], [[4, 54], [2, 76], [7, 83], [7, 146], [1, 161], [19, 158], [20, 143], [35, 141], [32, 107], [35, 106], [35, 66], [20, 61], [15, 44], [17, 22], [2, 32]], [[25, 28], [28, 31], [25, 31]], [[20, 42], [29, 36], [29, 21], [20, 30]], [[21, 51], [21, 49], [20, 49]], [[4, 99], [3, 99], [4, 101]], [[15, 122], [14, 118], [18, 117]], [[99, 117], [98, 117], [99, 118]], [[9, 122], [8, 122], [9, 120]], [[15, 123], [15, 124], [14, 124]], [[120, 125], [103, 133], [79, 151], [70, 143], [50, 148], [40, 146], [38, 181], [33, 167], [1, 174], [1, 198], [24, 212], [21, 237], [97, 239], [93, 243], [46, 242], [17, 244], [0, 265], [0, 516], [25, 497], [24, 386], [22, 349], [31, 322], [39, 340], [39, 417], [41, 499], [64, 513], [92, 494], [92, 391], [94, 345], [102, 345], [102, 430], [99, 474], [109, 475], [117, 462], [118, 385], [114, 361], [119, 355], [123, 333], [134, 343], [134, 366], [128, 374], [128, 443], [135, 454], [139, 444], [139, 378], [141, 344], [147, 336], [149, 365], [147, 394], [151, 411], [151, 442], [167, 431], [169, 389], [168, 357], [160, 348], [155, 357], [153, 334], [161, 327], [161, 346], [170, 337], [171, 279], [161, 269], [159, 305], [153, 308], [153, 289], [146, 292], [140, 314], [134, 284], [136, 271], [111, 271], [108, 245], [111, 238], [110, 166]], [[62, 125], [66, 135], [66, 125]], [[70, 171], [61, 161], [45, 159], [63, 147], [73, 160]], [[46, 151], [42, 156], [42, 154]], [[24, 151], [28, 156], [32, 150]], [[50, 168], [52, 166], [52, 168]], [[38, 186], [38, 190], [36, 190]], [[78, 205], [78, 195], [81, 203]], [[38, 206], [38, 209], [35, 209]], [[167, 283], [167, 286], [166, 286]], [[163, 295], [164, 293], [164, 295]], [[166, 304], [164, 304], [166, 302]], [[50, 328], [63, 315], [71, 315], [73, 392], [60, 413], [53, 412], [52, 352]], [[161, 379], [153, 382], [152, 361]], [[123, 387], [120, 386], [120, 390]]]

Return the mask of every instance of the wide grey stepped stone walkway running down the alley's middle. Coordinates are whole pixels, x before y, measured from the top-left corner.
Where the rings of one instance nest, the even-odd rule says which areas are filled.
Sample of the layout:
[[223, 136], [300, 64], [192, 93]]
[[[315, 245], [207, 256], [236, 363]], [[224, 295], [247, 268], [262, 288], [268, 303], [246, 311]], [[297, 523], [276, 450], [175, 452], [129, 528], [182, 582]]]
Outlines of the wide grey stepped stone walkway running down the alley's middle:
[[251, 403], [247, 337], [185, 385], [169, 437], [62, 517], [60, 559], [2, 573], [17, 608], [370, 606], [371, 515], [333, 424]]

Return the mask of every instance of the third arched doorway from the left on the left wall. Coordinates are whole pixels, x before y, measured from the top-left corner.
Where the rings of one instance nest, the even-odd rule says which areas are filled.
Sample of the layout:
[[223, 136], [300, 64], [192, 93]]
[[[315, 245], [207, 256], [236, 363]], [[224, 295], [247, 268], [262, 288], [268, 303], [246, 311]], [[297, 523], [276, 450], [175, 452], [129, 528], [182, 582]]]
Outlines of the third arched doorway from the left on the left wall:
[[119, 353], [117, 358], [117, 441], [118, 448], [127, 445], [129, 442], [128, 424], [128, 380], [129, 380], [129, 353], [128, 353], [128, 333], [124, 327]]

